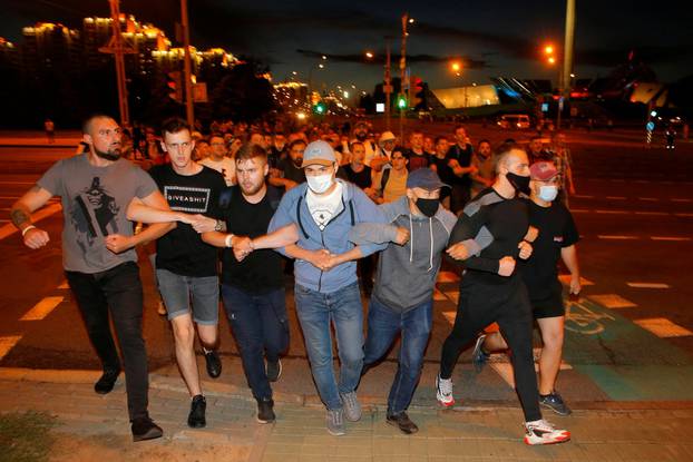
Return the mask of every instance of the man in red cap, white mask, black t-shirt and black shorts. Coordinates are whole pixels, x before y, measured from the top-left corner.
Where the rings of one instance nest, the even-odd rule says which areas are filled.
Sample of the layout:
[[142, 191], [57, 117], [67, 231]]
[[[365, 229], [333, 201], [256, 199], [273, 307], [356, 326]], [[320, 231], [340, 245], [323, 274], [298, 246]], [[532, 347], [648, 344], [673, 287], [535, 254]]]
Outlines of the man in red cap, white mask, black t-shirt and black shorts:
[[[556, 392], [556, 377], [560, 367], [563, 352], [565, 306], [563, 287], [558, 281], [558, 259], [562, 258], [570, 272], [570, 294], [580, 291], [580, 276], [575, 244], [579, 234], [570, 212], [558, 194], [558, 170], [552, 163], [539, 161], [530, 169], [531, 200], [526, 200], [529, 212], [529, 225], [538, 229], [533, 243], [531, 258], [519, 265], [523, 281], [527, 285], [533, 314], [544, 347], [539, 357], [539, 403], [559, 415], [570, 414], [570, 409]], [[507, 350], [508, 345], [495, 332], [479, 337], [475, 348], [475, 365], [480, 368], [488, 360], [488, 352]]]

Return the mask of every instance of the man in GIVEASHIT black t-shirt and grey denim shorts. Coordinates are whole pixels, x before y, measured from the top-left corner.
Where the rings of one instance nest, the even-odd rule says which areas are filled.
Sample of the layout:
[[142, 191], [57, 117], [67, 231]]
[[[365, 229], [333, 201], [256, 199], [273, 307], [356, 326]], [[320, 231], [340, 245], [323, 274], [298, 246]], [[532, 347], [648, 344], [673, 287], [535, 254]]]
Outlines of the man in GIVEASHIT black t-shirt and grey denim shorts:
[[214, 350], [218, 341], [217, 252], [198, 233], [224, 228], [223, 222], [216, 218], [218, 198], [226, 183], [222, 174], [192, 159], [195, 141], [185, 121], [167, 120], [162, 131], [170, 164], [153, 167], [149, 175], [173, 210], [201, 216], [194, 227], [178, 224], [157, 240], [156, 277], [173, 326], [178, 367], [192, 396], [187, 423], [191, 427], [203, 427], [206, 401], [195, 360], [195, 324], [209, 376], [219, 376], [222, 362]]

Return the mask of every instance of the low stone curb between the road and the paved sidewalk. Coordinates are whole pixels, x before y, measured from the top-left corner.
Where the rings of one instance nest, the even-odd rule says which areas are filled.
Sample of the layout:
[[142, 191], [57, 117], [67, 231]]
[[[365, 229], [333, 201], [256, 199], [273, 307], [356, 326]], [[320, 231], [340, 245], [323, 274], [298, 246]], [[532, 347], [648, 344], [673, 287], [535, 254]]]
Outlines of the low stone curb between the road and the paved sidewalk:
[[[101, 376], [100, 371], [88, 370], [36, 370], [25, 367], [0, 367], [0, 382], [49, 382], [92, 384]], [[123, 379], [118, 380], [119, 382]], [[246, 401], [255, 401], [250, 389], [226, 383], [202, 381], [205, 394], [209, 396], [226, 396]], [[187, 389], [179, 379], [173, 379], [157, 373], [149, 374], [149, 387], [153, 390], [166, 390], [187, 394]], [[305, 407], [322, 407], [323, 404], [316, 394], [274, 393], [274, 401], [280, 403], [295, 404]], [[364, 405], [387, 405], [384, 396], [359, 396]], [[463, 405], [453, 407], [452, 412], [465, 411], [491, 411], [498, 407], [519, 409], [519, 403], [513, 401], [491, 400], [465, 400]], [[634, 412], [634, 411], [676, 411], [693, 410], [693, 401], [574, 401], [570, 403], [576, 412], [607, 411], [607, 412]], [[412, 410], [445, 411], [437, 405], [412, 405]]]

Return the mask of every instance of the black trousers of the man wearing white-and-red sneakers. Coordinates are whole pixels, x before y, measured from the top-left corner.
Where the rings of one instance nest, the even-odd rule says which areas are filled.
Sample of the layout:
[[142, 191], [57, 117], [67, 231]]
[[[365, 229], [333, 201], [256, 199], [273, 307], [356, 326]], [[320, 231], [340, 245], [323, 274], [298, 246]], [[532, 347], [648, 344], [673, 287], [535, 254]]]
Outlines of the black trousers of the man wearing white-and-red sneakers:
[[519, 275], [504, 285], [465, 282], [452, 332], [442, 344], [440, 376], [450, 379], [462, 350], [491, 323], [498, 323], [513, 354], [515, 387], [525, 413], [525, 421], [541, 419], [539, 390], [531, 351], [533, 318], [527, 287]]

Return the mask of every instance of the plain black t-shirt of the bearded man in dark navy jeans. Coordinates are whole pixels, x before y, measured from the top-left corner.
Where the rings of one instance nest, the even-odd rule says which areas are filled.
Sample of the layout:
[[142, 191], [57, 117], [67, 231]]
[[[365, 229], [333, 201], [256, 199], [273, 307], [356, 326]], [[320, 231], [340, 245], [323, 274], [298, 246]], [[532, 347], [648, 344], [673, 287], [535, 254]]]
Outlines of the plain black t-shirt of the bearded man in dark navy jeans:
[[[279, 207], [282, 193], [267, 186], [265, 197], [248, 203], [241, 188], [231, 189], [228, 207], [223, 210], [226, 229], [238, 236], [257, 237], [267, 234], [267, 226]], [[222, 282], [252, 294], [262, 294], [283, 287], [282, 256], [269, 248], [254, 250], [242, 262], [236, 261], [231, 248], [224, 249]]]

